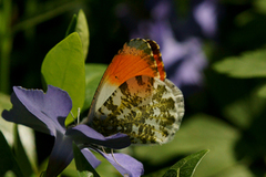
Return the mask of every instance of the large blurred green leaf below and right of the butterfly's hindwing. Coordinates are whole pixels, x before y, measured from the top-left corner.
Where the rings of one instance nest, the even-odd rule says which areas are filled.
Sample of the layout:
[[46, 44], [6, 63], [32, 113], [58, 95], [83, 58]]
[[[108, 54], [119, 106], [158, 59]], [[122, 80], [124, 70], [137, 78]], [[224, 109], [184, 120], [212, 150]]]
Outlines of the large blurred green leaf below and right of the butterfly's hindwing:
[[127, 149], [127, 154], [133, 152], [139, 160], [160, 166], [198, 149], [209, 149], [212, 153], [204, 157], [195, 176], [215, 176], [236, 165], [248, 170], [248, 167], [235, 156], [234, 147], [241, 135], [234, 126], [217, 117], [196, 114], [183, 119], [172, 142], [162, 146], [133, 146], [130, 147], [133, 149]]

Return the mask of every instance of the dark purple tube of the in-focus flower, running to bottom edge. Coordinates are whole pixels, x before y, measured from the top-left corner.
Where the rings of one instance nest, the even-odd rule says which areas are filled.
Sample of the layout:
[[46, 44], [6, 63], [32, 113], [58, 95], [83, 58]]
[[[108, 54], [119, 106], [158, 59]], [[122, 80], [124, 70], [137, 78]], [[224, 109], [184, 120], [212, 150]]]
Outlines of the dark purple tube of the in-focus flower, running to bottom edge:
[[47, 176], [58, 176], [73, 159], [72, 138], [58, 132], [49, 158]]

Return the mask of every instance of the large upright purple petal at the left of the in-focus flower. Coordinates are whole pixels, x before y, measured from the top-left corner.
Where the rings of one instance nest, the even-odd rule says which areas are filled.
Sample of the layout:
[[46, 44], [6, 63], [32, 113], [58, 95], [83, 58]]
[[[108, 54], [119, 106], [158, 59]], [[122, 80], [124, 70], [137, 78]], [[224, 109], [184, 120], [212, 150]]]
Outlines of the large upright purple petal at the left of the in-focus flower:
[[13, 107], [2, 113], [6, 121], [53, 136], [57, 131], [64, 132], [64, 119], [72, 107], [69, 94], [51, 85], [45, 94], [41, 90], [14, 86], [11, 102]]

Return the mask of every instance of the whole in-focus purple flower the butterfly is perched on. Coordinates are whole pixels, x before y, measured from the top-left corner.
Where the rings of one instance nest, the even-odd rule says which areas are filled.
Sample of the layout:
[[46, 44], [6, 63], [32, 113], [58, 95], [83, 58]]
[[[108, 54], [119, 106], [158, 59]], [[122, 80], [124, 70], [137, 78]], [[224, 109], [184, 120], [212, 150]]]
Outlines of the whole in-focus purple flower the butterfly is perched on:
[[82, 124], [65, 128], [64, 121], [72, 108], [72, 101], [65, 91], [49, 85], [44, 94], [40, 90], [24, 90], [14, 86], [11, 102], [13, 107], [10, 111], [2, 112], [2, 117], [6, 121], [29, 126], [55, 138], [47, 176], [59, 175], [70, 164], [73, 159], [73, 142], [81, 148], [81, 152], [94, 168], [100, 165], [100, 160], [91, 150], [100, 153], [122, 175], [136, 177], [143, 174], [143, 165], [136, 159], [124, 154], [105, 154], [96, 148], [98, 146], [113, 149], [127, 147], [131, 145], [127, 135], [117, 133], [104, 137]]

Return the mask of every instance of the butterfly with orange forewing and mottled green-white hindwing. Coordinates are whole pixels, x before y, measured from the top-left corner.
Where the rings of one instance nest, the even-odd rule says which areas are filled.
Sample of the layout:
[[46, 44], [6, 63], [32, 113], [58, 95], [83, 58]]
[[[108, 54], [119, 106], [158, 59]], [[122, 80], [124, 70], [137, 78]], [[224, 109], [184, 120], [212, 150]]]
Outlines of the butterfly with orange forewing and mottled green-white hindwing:
[[108, 66], [85, 122], [104, 136], [120, 132], [132, 144], [164, 144], [183, 115], [183, 94], [166, 79], [160, 46], [133, 39]]

